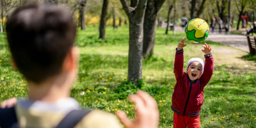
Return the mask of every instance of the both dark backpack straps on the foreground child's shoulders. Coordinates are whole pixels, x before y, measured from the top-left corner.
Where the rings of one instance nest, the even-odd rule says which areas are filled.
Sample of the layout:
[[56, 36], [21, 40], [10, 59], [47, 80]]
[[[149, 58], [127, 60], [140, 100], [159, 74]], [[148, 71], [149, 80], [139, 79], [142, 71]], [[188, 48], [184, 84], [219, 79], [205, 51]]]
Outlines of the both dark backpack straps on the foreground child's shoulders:
[[[72, 110], [56, 126], [56, 128], [73, 128], [90, 111]], [[0, 128], [18, 128], [15, 108], [0, 109]]]

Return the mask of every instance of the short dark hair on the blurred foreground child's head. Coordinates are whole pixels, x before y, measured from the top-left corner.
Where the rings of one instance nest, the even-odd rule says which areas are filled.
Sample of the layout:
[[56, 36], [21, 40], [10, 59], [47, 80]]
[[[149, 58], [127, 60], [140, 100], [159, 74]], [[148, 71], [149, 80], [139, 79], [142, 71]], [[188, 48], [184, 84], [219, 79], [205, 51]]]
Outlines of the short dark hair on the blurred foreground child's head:
[[70, 12], [49, 4], [17, 8], [6, 22], [12, 58], [28, 81], [41, 83], [61, 71], [74, 44], [76, 24]]

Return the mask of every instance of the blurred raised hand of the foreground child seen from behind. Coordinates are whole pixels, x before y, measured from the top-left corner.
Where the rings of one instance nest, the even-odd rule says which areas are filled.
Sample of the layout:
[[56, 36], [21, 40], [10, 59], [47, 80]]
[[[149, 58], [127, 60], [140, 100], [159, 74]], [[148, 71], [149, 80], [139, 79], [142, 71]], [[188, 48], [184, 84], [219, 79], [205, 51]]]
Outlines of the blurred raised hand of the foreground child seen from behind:
[[129, 95], [129, 100], [136, 106], [136, 118], [134, 121], [131, 121], [124, 111], [118, 111], [116, 113], [126, 128], [158, 127], [159, 111], [156, 100], [143, 91], [138, 91], [134, 95]]

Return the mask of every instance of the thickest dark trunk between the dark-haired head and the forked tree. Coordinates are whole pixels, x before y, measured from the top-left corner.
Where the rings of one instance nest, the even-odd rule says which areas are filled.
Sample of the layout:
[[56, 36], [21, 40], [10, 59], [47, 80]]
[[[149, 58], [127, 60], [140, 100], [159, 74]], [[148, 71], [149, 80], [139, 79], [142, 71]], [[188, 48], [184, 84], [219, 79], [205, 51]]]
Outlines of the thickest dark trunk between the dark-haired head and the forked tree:
[[108, 13], [108, 2], [109, 0], [104, 0], [103, 1], [103, 6], [102, 6], [102, 12], [100, 16], [100, 36], [102, 40], [105, 40], [105, 29], [106, 29], [106, 22], [107, 22], [107, 13]]

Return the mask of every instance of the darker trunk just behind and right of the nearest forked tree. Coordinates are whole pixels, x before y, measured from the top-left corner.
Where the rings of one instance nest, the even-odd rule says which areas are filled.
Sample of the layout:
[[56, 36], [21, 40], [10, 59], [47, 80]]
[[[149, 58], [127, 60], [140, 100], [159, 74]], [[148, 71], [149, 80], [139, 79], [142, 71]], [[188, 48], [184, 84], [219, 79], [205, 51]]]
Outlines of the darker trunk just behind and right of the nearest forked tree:
[[152, 56], [154, 51], [157, 16], [165, 0], [148, 0], [143, 24], [143, 58]]

